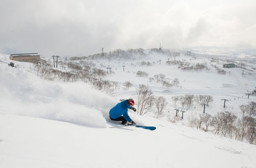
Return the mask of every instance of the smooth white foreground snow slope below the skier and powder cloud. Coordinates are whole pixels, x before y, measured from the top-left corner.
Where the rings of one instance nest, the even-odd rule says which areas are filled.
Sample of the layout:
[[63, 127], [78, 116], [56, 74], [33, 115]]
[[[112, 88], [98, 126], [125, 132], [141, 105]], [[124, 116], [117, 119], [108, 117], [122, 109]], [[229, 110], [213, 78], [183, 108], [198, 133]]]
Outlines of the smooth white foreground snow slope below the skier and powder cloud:
[[[1, 167], [255, 167], [256, 146], [158, 123], [92, 128], [0, 115]], [[160, 125], [160, 124], [161, 125]]]

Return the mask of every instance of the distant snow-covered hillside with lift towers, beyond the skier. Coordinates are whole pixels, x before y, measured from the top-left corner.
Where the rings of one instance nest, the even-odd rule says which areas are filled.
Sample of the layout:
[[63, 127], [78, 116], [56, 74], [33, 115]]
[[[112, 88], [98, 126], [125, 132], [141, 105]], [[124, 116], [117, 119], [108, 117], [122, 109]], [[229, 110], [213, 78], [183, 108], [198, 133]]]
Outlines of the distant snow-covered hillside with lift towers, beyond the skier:
[[[229, 55], [228, 55], [229, 56]], [[219, 57], [223, 57], [220, 56]], [[136, 89], [138, 85], [143, 84], [150, 86], [153, 93], [156, 96], [164, 96], [168, 102], [166, 111], [175, 111], [176, 107], [181, 107], [181, 104], [177, 106], [173, 103], [173, 96], [180, 96], [185, 94], [194, 94], [194, 95], [210, 95], [213, 97], [214, 102], [210, 103], [210, 106], [206, 108], [206, 111], [215, 115], [220, 111], [232, 111], [232, 113], [241, 116], [241, 111], [239, 106], [243, 104], [248, 104], [248, 102], [256, 101], [256, 96], [250, 96], [247, 99], [246, 93], [249, 93], [255, 89], [256, 86], [256, 72], [247, 71], [242, 68], [222, 68], [222, 65], [227, 63], [225, 60], [229, 61], [228, 57], [217, 60], [216, 63], [210, 63], [210, 59], [218, 59], [217, 56], [213, 57], [212, 55], [205, 54], [196, 54], [193, 57], [186, 56], [181, 54], [180, 57], [168, 57], [168, 55], [162, 53], [152, 53], [146, 57], [134, 58], [132, 60], [92, 60], [95, 63], [100, 63], [105, 65], [105, 67], [112, 67], [113, 73], [109, 73], [107, 78], [109, 80], [120, 82], [121, 86], [125, 81], [130, 81], [133, 84], [129, 90], [116, 91], [114, 97], [135, 97]], [[243, 60], [236, 57], [231, 57], [232, 61], [237, 61], [238, 63]], [[251, 55], [250, 63], [253, 63], [256, 59], [255, 56]], [[183, 61], [189, 62], [191, 64], [205, 64], [210, 70], [201, 70], [201, 71], [183, 71], [178, 69], [175, 65], [167, 65], [166, 61]], [[225, 60], [224, 60], [225, 59]], [[161, 64], [158, 62], [161, 60]], [[140, 66], [138, 63], [142, 61], [149, 61], [152, 63], [152, 66]], [[155, 63], [155, 64], [154, 64]], [[252, 66], [249, 63], [242, 62], [246, 65], [246, 68]], [[125, 65], [125, 71], [123, 71], [123, 65]], [[215, 68], [212, 68], [211, 65], [216, 65], [218, 68], [226, 71], [226, 74], [218, 74]], [[254, 68], [255, 65], [253, 65]], [[104, 69], [102, 66], [98, 65], [98, 68]], [[249, 68], [250, 69], [250, 68]], [[148, 77], [137, 77], [136, 72], [144, 71], [148, 73]], [[242, 73], [245, 75], [243, 76]], [[154, 77], [157, 74], [164, 74], [166, 78], [170, 80], [174, 78], [179, 79], [178, 87], [166, 88], [162, 87], [161, 83], [150, 82], [149, 77]], [[124, 88], [124, 87], [122, 87]], [[229, 102], [226, 102], [226, 107], [223, 108], [224, 102], [221, 99], [228, 99]], [[194, 103], [188, 109], [188, 113], [202, 113], [203, 107], [200, 104]], [[194, 113], [195, 114], [195, 113]], [[166, 114], [167, 115], [167, 114]]]

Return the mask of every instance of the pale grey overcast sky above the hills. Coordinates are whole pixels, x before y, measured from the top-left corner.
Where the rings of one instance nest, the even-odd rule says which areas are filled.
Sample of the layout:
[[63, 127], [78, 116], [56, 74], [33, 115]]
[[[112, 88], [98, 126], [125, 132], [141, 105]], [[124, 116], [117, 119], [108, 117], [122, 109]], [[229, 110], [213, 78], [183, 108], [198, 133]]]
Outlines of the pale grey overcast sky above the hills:
[[253, 0], [0, 0], [0, 53], [256, 47]]

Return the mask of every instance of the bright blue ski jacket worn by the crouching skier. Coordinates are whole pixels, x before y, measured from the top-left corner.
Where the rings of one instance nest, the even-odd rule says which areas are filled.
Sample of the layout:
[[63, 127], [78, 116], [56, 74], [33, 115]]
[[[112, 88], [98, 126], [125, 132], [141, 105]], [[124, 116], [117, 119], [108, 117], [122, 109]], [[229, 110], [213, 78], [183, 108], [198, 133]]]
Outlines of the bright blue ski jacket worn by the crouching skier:
[[128, 100], [117, 103], [113, 108], [110, 109], [110, 118], [116, 119], [123, 116], [125, 120], [131, 122], [132, 119], [128, 115], [128, 108], [131, 109]]

